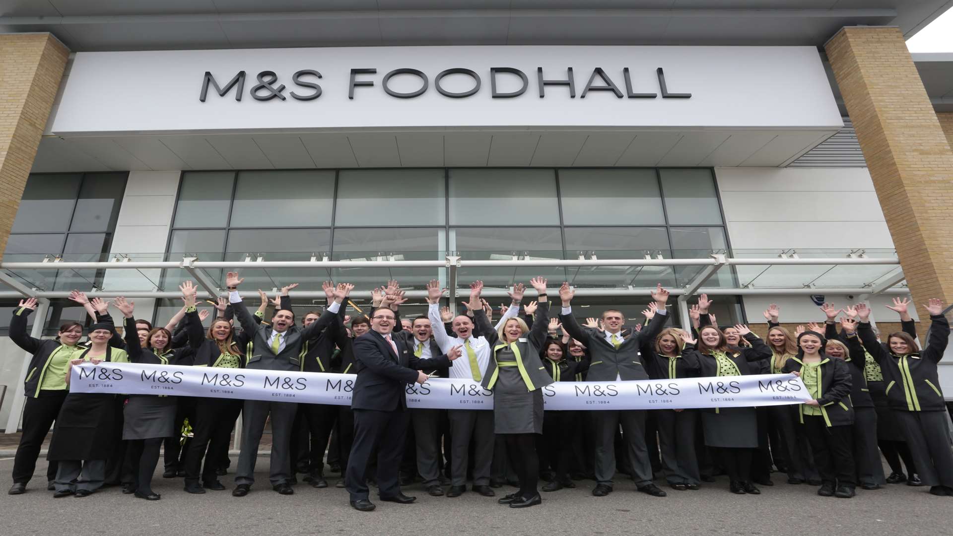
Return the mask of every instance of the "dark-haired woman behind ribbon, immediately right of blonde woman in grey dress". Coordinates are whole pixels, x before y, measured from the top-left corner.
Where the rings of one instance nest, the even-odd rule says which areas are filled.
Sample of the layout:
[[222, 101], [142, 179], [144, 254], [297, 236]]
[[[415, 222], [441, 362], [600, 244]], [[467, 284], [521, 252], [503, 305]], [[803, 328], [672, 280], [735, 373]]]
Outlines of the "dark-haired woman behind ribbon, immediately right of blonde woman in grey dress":
[[[558, 322], [552, 324], [558, 328]], [[569, 336], [563, 335], [562, 340], [546, 340], [539, 350], [539, 358], [546, 373], [553, 381], [576, 381], [576, 377], [589, 369], [589, 360], [569, 360], [566, 341]], [[579, 412], [572, 410], [550, 410], [543, 412], [541, 466], [548, 465], [553, 471], [553, 480], [544, 486], [543, 491], [557, 491], [563, 487], [576, 487], [569, 478], [569, 464], [573, 457], [573, 442], [579, 432]]]

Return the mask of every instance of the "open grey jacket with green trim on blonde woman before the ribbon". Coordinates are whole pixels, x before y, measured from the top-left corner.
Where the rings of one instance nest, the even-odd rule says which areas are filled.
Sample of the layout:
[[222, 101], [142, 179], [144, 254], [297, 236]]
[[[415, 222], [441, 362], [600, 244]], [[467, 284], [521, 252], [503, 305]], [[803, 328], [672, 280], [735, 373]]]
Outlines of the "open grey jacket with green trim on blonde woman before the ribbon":
[[493, 329], [490, 320], [486, 318], [486, 313], [482, 309], [474, 311], [474, 320], [476, 320], [476, 333], [486, 338], [487, 342], [493, 348], [493, 355], [486, 370], [483, 371], [483, 381], [481, 385], [487, 389], [493, 389], [497, 381], [497, 351], [500, 348], [509, 346], [513, 349], [513, 354], [517, 359], [519, 376], [526, 383], [527, 391], [536, 391], [543, 385], [549, 385], [554, 380], [546, 374], [546, 367], [539, 360], [539, 349], [549, 337], [549, 302], [545, 298], [539, 297], [539, 306], [537, 307], [536, 320], [533, 320], [533, 327], [526, 334], [526, 338], [520, 338], [516, 342], [507, 344], [499, 339], [497, 331]]

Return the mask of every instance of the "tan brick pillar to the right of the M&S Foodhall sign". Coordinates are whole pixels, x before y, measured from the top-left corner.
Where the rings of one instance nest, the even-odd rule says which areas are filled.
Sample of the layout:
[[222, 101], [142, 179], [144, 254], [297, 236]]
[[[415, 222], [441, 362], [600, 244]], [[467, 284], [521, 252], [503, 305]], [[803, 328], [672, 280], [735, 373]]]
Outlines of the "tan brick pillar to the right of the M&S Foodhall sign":
[[898, 29], [843, 28], [825, 49], [925, 320], [926, 299], [953, 301], [953, 152]]

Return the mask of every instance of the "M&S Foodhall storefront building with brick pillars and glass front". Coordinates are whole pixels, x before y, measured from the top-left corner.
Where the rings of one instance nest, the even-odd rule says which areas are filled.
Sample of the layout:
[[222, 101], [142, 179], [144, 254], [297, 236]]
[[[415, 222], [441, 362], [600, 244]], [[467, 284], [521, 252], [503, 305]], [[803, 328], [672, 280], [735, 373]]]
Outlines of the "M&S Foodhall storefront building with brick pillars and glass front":
[[0, 13], [0, 330], [71, 289], [162, 323], [226, 267], [300, 312], [328, 278], [412, 317], [431, 278], [753, 327], [953, 301], [953, 59], [904, 44], [945, 2], [60, 3]]

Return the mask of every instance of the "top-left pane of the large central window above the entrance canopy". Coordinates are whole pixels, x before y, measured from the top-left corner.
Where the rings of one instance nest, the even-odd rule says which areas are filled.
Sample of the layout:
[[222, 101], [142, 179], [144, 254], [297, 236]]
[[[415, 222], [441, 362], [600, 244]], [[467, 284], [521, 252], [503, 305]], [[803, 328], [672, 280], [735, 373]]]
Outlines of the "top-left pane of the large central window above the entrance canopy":
[[[232, 172], [187, 173], [175, 206], [175, 227], [225, 227], [232, 203]], [[274, 215], [262, 214], [262, 217]]]

